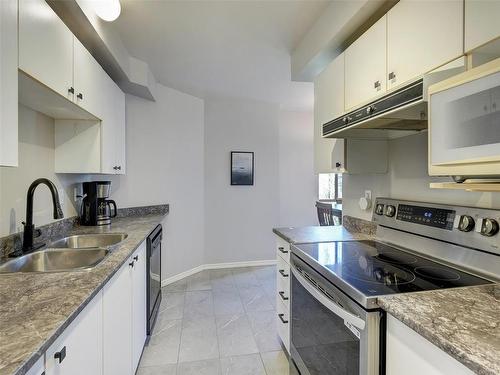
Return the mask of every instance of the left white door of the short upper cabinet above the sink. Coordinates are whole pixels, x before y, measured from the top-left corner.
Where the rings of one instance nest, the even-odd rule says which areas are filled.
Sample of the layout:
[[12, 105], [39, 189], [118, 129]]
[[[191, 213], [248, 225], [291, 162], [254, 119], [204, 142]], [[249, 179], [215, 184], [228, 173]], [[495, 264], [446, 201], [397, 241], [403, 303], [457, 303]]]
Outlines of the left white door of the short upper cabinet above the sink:
[[19, 1], [19, 69], [73, 100], [73, 34], [44, 0]]

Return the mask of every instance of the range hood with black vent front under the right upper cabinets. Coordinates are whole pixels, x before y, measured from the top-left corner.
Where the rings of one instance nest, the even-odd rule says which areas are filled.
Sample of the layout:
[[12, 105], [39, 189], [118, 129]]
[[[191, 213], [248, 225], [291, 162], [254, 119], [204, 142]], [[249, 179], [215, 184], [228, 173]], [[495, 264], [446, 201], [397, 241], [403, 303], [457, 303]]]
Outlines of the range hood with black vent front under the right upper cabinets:
[[393, 139], [427, 129], [427, 89], [465, 70], [460, 58], [354, 111], [323, 124], [323, 137]]

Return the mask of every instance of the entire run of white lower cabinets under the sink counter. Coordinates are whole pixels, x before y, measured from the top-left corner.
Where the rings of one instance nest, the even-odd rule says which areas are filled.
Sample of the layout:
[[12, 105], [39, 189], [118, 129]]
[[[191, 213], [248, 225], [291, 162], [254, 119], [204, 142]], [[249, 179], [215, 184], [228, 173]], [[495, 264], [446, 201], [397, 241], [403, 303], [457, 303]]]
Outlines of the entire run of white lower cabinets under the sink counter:
[[144, 241], [27, 375], [135, 374], [146, 341], [146, 298]]

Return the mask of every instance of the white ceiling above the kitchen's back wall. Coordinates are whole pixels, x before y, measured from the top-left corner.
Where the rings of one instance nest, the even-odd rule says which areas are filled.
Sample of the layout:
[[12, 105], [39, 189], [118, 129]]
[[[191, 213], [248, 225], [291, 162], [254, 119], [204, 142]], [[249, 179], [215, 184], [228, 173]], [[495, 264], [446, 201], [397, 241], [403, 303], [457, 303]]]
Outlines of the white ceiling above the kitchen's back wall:
[[329, 1], [121, 0], [112, 24], [158, 82], [209, 98], [312, 109], [311, 83], [291, 82], [290, 54]]

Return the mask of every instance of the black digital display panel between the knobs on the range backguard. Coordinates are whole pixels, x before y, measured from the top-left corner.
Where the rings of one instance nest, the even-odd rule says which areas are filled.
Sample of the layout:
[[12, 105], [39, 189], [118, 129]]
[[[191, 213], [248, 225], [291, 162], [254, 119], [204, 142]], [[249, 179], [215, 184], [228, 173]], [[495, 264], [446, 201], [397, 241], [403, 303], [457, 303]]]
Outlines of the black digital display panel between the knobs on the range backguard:
[[412, 206], [409, 204], [399, 204], [397, 220], [428, 225], [446, 230], [453, 229], [455, 221], [455, 211], [435, 207]]

